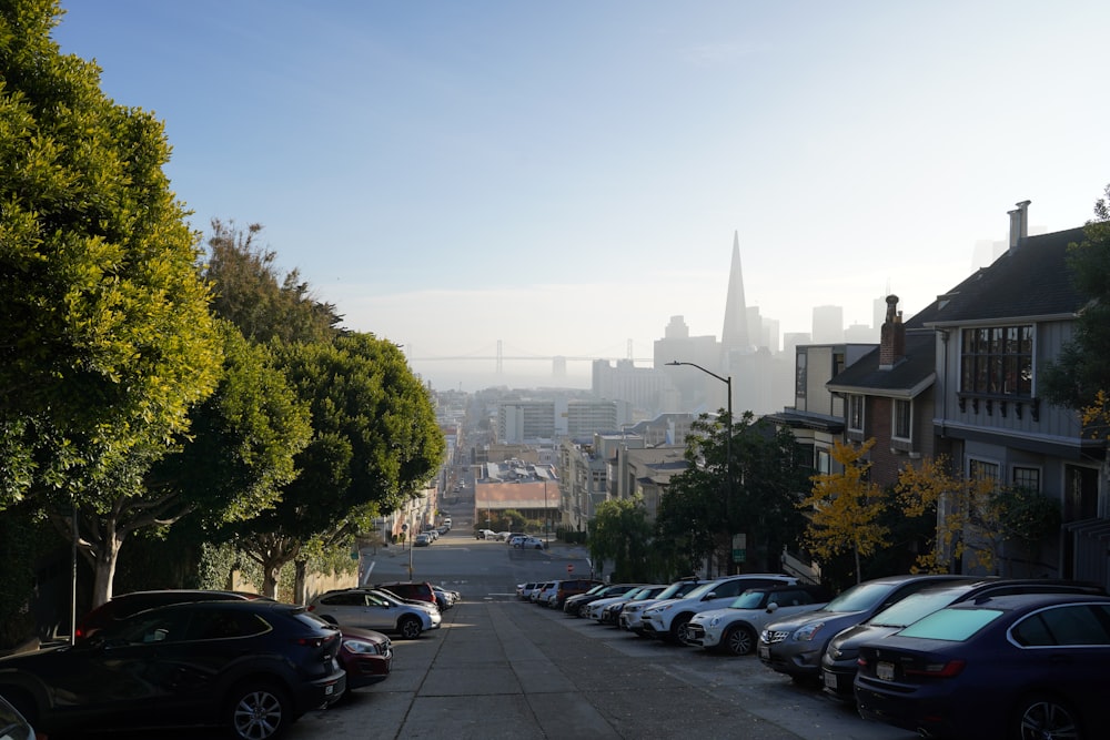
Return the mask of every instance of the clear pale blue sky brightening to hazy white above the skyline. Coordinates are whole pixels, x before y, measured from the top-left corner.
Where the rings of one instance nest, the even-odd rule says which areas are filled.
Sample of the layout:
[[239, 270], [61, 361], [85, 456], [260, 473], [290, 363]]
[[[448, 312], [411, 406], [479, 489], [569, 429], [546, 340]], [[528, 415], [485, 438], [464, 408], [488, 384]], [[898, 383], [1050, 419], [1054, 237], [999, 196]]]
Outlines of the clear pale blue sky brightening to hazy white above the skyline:
[[1104, 0], [61, 7], [61, 51], [164, 122], [193, 227], [263, 224], [441, 389], [500, 384], [498, 343], [649, 358], [675, 315], [719, 337], [734, 234], [784, 333], [887, 293], [911, 316], [1017, 202], [1071, 229], [1110, 183]]

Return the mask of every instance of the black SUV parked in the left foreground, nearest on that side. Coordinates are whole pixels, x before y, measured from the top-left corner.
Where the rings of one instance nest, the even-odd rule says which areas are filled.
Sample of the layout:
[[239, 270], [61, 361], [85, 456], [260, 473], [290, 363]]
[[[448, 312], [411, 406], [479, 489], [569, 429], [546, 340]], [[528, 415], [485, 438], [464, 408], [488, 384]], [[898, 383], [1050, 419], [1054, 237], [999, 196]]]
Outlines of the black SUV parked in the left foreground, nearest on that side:
[[226, 727], [270, 740], [340, 699], [340, 631], [304, 607], [157, 607], [73, 646], [0, 659], [0, 696], [44, 734]]

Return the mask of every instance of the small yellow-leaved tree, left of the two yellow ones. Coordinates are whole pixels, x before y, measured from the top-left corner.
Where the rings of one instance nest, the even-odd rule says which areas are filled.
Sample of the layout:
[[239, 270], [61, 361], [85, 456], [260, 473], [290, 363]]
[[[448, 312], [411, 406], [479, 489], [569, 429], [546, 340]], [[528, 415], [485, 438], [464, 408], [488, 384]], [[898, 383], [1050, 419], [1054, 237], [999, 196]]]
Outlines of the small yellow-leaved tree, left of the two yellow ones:
[[882, 489], [867, 478], [871, 464], [865, 456], [874, 446], [874, 437], [858, 447], [835, 442], [830, 455], [841, 469], [815, 475], [813, 491], [799, 504], [809, 511], [806, 541], [810, 551], [829, 559], [849, 550], [857, 584], [862, 580], [860, 558], [887, 545], [888, 529], [880, 521], [886, 499]]

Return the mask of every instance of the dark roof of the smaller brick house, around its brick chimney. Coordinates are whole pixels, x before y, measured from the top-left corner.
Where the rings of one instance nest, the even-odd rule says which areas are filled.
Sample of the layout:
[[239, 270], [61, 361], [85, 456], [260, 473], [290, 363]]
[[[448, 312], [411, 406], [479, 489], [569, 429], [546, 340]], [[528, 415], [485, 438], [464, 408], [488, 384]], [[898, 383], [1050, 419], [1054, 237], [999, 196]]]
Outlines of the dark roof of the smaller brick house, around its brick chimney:
[[825, 384], [833, 393], [915, 398], [937, 378], [937, 339], [932, 330], [906, 330], [906, 355], [889, 369], [879, 368], [875, 349]]

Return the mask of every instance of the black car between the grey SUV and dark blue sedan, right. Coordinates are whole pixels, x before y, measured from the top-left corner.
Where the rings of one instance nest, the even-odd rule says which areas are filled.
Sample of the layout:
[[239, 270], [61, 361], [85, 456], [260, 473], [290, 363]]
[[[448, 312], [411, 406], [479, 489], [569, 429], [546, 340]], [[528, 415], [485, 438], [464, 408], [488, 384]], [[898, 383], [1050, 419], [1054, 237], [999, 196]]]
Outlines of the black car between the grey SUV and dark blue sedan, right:
[[991, 578], [922, 589], [833, 638], [821, 656], [821, 683], [825, 692], [845, 701], [855, 701], [852, 682], [856, 678], [856, 660], [859, 658], [859, 646], [865, 642], [894, 635], [951, 604], [1007, 594], [1104, 596], [1106, 591], [1096, 584], [1038, 578]]

